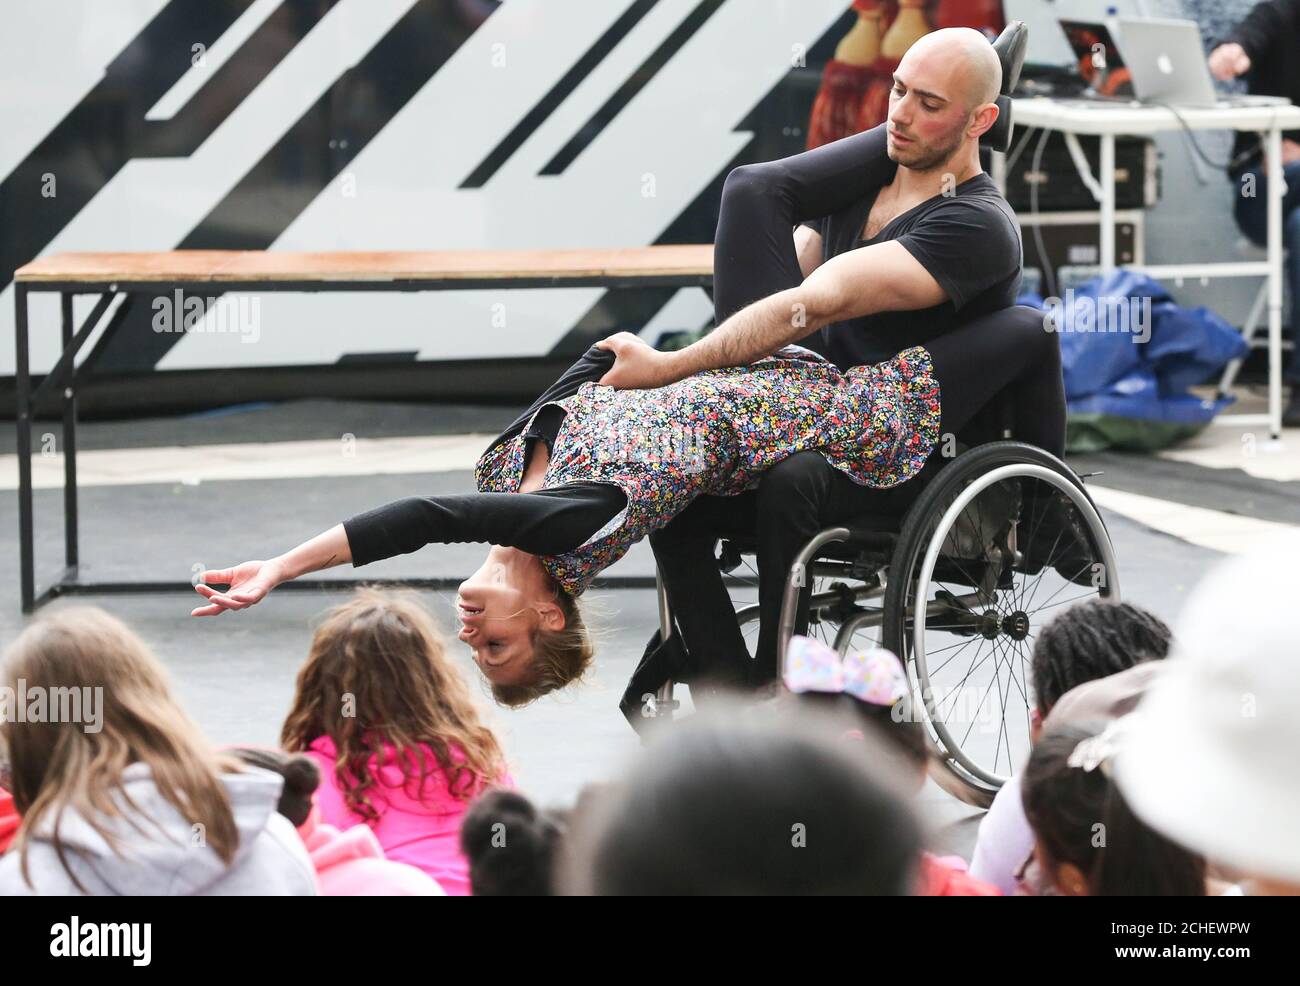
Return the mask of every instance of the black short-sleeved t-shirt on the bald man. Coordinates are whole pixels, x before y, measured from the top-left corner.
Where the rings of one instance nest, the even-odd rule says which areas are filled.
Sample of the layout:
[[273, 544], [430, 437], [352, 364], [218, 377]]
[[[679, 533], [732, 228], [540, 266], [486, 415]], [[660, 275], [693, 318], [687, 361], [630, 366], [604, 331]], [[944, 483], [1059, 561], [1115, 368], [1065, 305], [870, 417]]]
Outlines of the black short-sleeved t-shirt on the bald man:
[[924, 345], [982, 315], [1015, 304], [1023, 263], [1015, 213], [983, 172], [953, 193], [914, 206], [871, 239], [862, 239], [862, 229], [879, 190], [840, 212], [800, 224], [822, 234], [823, 261], [896, 239], [948, 294], [932, 308], [832, 323], [803, 345], [848, 369], [889, 359], [909, 346]]

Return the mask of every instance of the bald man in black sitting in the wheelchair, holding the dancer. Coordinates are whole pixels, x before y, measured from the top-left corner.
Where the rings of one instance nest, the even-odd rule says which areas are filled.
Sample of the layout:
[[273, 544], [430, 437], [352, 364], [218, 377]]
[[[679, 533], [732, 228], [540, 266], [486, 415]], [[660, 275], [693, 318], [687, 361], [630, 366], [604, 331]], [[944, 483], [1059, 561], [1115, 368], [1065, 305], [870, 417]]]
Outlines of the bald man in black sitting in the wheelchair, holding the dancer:
[[[746, 366], [796, 342], [848, 369], [983, 320], [989, 332], [1020, 333], [1037, 371], [965, 380], [959, 368], [950, 369], [940, 377], [944, 421], [949, 399], [983, 406], [1009, 389], [1018, 408], [1041, 408], [1024, 423], [1017, 414], [1017, 437], [1061, 454], [1058, 342], [1044, 332], [1040, 312], [1013, 307], [1019, 226], [979, 161], [979, 138], [998, 116], [1001, 78], [997, 53], [982, 34], [935, 31], [913, 44], [894, 72], [884, 125], [732, 170], [715, 241], [716, 328], [676, 353], [659, 353], [630, 333], [612, 336], [597, 343], [616, 356], [601, 382], [663, 386], [703, 369]], [[927, 471], [939, 464], [936, 457]], [[809, 451], [774, 467], [757, 490], [702, 497], [653, 535], [692, 666], [711, 666], [719, 679], [734, 679], [744, 667], [749, 684], [770, 680], [785, 576], [798, 550], [827, 526], [897, 515], [919, 485], [859, 486]], [[748, 660], [714, 561], [718, 536], [746, 531], [758, 535], [755, 661]], [[803, 619], [801, 611], [798, 626]], [[653, 648], [644, 663], [651, 654]]]

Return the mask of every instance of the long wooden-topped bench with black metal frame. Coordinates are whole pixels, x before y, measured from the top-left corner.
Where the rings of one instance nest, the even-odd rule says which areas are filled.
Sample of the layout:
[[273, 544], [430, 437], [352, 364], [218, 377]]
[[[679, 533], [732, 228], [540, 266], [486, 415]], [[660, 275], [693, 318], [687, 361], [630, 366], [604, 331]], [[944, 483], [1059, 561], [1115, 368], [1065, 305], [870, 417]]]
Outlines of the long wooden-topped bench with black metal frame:
[[[82, 581], [77, 536], [77, 354], [120, 294], [212, 291], [434, 291], [484, 287], [711, 287], [711, 245], [610, 250], [443, 250], [416, 252], [292, 254], [256, 250], [173, 250], [160, 254], [55, 254], [14, 272], [14, 389], [18, 438], [18, 539], [22, 611], [69, 593], [191, 591], [187, 581]], [[32, 386], [29, 366], [27, 298], [60, 295], [62, 353]], [[98, 295], [79, 328], [73, 297]], [[108, 343], [110, 325], [96, 342]], [[87, 363], [94, 360], [87, 359]], [[31, 425], [35, 408], [58, 395], [64, 423], [64, 561], [60, 576], [39, 594], [32, 546]], [[376, 579], [299, 579], [303, 589], [354, 585]], [[384, 581], [384, 580], [378, 580]], [[446, 580], [394, 579], [387, 584], [446, 588]], [[615, 580], [606, 580], [612, 584]], [[640, 580], [637, 580], [640, 584]], [[653, 584], [653, 583], [651, 583]]]

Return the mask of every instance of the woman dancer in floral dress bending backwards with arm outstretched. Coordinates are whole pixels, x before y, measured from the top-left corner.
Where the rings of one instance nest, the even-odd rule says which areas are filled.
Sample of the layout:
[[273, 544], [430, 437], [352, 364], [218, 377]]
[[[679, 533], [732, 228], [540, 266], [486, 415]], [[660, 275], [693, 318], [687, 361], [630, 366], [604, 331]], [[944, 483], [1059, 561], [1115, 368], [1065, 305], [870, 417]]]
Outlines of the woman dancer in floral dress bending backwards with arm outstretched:
[[[920, 470], [941, 431], [957, 432], [993, 394], [1041, 372], [1056, 338], [1027, 323], [992, 330], [996, 319], [868, 367], [840, 371], [786, 346], [654, 390], [593, 382], [593, 363], [612, 362], [593, 347], [484, 453], [477, 493], [406, 497], [278, 557], [205, 571], [195, 588], [207, 605], [192, 615], [246, 609], [282, 581], [347, 562], [486, 542], [484, 565], [459, 588], [458, 636], [498, 701], [524, 705], [589, 666], [576, 601], [595, 575], [696, 497], [741, 493], [805, 450], [854, 483], [894, 486]], [[738, 683], [745, 670], [718, 675]]]

